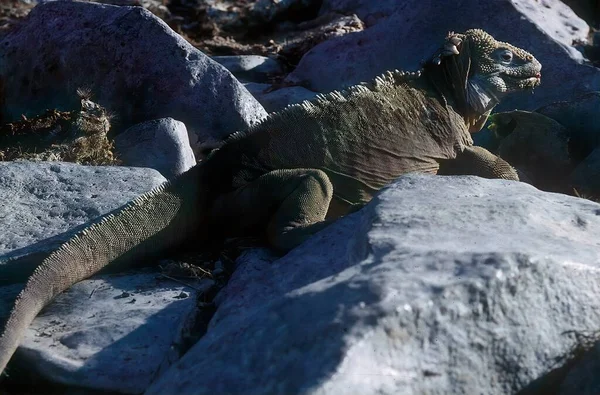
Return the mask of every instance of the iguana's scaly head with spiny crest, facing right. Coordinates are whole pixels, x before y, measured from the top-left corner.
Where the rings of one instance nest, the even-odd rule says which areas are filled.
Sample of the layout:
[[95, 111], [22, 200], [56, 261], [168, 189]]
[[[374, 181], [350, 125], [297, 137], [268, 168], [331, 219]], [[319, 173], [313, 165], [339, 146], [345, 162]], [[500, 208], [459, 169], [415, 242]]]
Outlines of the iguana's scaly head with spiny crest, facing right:
[[480, 130], [492, 108], [507, 94], [533, 90], [542, 65], [529, 52], [496, 41], [480, 29], [450, 33], [433, 58], [470, 131]]

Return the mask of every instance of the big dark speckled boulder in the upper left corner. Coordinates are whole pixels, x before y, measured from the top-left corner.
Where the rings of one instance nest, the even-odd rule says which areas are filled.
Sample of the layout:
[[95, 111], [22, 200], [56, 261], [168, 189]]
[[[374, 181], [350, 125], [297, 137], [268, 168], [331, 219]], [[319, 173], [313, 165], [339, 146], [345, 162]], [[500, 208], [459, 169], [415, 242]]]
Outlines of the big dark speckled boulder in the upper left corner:
[[5, 120], [75, 108], [80, 87], [117, 115], [121, 130], [173, 117], [192, 145], [266, 114], [224, 67], [141, 7], [40, 4], [0, 40], [0, 63]]

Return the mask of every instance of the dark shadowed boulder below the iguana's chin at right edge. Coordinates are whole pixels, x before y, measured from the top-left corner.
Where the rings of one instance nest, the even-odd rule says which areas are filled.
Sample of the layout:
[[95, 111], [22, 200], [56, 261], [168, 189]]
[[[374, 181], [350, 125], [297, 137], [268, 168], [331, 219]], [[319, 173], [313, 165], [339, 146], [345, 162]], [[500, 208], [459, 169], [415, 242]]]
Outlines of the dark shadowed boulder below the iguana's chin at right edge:
[[[492, 114], [476, 142], [540, 189], [600, 197], [600, 92], [530, 111]], [[493, 132], [492, 132], [493, 131]]]

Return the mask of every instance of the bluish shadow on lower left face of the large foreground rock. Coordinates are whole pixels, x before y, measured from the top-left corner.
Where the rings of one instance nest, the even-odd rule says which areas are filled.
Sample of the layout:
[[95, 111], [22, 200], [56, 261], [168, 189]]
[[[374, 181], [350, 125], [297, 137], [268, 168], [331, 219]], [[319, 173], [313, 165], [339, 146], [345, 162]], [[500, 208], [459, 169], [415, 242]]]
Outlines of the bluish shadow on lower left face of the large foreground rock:
[[[383, 313], [368, 308], [377, 301], [367, 282], [278, 298], [232, 329], [209, 330], [177, 370], [181, 373], [157, 391], [172, 386], [175, 393], [191, 388], [198, 394], [257, 393], [257, 388], [260, 393], [309, 393], [338, 368], [348, 348], [344, 338], [377, 325]], [[351, 311], [361, 303], [369, 310], [364, 316]]]

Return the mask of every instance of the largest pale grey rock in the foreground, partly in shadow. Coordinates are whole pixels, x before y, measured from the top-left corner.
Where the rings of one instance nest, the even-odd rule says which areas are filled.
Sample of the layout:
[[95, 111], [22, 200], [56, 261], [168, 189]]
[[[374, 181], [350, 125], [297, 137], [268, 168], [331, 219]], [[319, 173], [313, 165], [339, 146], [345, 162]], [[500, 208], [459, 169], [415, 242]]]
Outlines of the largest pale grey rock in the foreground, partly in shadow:
[[565, 331], [600, 325], [599, 214], [523, 183], [402, 177], [285, 257], [240, 259], [146, 394], [516, 393]]

